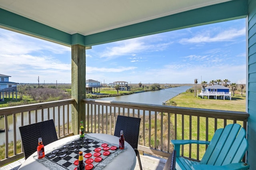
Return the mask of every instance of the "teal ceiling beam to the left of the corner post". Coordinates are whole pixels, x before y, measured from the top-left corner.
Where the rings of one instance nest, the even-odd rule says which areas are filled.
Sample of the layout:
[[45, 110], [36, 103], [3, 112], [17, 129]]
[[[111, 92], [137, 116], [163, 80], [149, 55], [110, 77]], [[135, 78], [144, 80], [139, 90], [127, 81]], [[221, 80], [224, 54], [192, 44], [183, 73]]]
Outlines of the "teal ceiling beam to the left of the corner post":
[[70, 34], [18, 14], [14, 14], [2, 8], [0, 8], [0, 26], [34, 37], [58, 42], [60, 44], [72, 45]]

